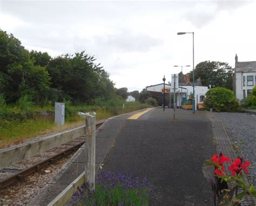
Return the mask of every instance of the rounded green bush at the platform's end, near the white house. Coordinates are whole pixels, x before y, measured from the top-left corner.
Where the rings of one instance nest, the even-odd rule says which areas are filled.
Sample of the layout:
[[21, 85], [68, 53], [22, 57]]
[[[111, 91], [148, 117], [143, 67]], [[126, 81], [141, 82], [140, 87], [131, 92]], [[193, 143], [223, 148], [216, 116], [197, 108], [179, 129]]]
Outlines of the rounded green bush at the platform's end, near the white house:
[[241, 107], [234, 93], [224, 87], [215, 87], [208, 90], [204, 105], [206, 109], [213, 108], [216, 112], [241, 111]]

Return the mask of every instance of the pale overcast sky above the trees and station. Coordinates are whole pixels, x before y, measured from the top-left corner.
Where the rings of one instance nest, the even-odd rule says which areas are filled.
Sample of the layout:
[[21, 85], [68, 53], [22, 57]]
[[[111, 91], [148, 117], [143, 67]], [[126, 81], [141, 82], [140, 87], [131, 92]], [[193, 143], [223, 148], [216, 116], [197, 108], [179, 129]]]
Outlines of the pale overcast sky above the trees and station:
[[[129, 91], [201, 61], [256, 60], [255, 1], [4, 1], [0, 28], [52, 57], [85, 50]], [[74, 83], [75, 84], [75, 83]]]

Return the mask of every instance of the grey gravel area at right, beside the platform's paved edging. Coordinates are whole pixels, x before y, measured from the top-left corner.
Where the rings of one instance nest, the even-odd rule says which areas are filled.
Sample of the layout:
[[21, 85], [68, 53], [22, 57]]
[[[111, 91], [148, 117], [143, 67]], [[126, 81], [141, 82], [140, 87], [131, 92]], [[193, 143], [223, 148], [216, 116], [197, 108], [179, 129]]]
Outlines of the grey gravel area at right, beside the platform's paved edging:
[[251, 166], [248, 180], [255, 186], [256, 177], [256, 115], [249, 113], [214, 113], [230, 136], [233, 145], [236, 146], [235, 153], [244, 160], [249, 160]]

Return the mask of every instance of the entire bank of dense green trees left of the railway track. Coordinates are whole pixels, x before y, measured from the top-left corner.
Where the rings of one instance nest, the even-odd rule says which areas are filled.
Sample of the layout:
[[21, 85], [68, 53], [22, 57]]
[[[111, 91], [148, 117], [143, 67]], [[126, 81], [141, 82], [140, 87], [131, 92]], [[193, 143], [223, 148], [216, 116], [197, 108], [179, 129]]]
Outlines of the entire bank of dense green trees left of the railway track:
[[29, 52], [17, 38], [0, 30], [1, 101], [43, 106], [48, 100], [90, 104], [96, 98], [111, 99], [114, 84], [95, 60], [84, 51], [56, 58], [47, 52]]

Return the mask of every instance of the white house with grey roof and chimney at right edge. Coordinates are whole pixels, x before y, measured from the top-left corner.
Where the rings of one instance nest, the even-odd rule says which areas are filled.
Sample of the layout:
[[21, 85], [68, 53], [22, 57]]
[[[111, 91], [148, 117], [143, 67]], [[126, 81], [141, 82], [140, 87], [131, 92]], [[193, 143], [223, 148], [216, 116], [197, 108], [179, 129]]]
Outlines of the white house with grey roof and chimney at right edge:
[[245, 99], [252, 93], [256, 85], [256, 61], [238, 61], [235, 54], [235, 73], [233, 91], [239, 100]]

